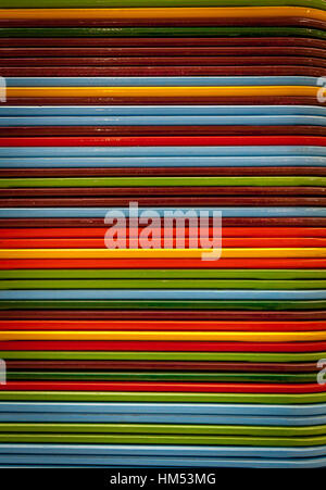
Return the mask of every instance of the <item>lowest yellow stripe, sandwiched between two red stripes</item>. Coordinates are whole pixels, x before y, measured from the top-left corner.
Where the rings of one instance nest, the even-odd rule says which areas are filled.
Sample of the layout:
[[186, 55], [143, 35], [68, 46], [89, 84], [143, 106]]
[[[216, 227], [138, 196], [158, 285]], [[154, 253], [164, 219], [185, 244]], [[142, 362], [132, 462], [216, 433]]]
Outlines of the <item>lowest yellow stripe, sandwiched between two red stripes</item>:
[[0, 331], [0, 340], [203, 340], [291, 342], [326, 340], [326, 331]]

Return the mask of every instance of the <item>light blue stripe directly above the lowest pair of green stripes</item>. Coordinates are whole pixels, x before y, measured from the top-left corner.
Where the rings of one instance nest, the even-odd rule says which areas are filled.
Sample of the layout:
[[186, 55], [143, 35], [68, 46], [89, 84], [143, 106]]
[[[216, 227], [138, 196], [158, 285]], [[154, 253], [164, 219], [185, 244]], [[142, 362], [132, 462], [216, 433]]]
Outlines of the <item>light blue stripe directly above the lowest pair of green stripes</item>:
[[249, 426], [302, 427], [326, 423], [322, 417], [246, 417], [228, 415], [180, 414], [57, 414], [57, 413], [0, 413], [0, 423], [70, 423], [70, 424], [216, 424]]

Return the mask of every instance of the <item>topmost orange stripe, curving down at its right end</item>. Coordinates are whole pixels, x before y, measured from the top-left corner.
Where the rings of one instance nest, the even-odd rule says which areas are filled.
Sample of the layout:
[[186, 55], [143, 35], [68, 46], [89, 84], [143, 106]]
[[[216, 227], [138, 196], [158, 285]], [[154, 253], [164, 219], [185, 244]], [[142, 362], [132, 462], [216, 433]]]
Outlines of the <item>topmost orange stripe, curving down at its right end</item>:
[[140, 18], [253, 18], [308, 17], [326, 20], [326, 12], [304, 7], [242, 8], [140, 8], [140, 9], [1, 9], [0, 18], [8, 20], [140, 20]]

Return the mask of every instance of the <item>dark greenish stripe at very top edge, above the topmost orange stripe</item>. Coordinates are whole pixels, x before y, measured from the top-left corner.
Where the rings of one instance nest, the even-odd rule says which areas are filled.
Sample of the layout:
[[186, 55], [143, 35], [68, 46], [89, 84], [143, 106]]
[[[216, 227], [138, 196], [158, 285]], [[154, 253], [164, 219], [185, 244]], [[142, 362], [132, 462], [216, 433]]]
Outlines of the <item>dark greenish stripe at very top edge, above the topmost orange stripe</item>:
[[2, 0], [1, 9], [80, 9], [137, 7], [309, 7], [325, 10], [324, 0]]

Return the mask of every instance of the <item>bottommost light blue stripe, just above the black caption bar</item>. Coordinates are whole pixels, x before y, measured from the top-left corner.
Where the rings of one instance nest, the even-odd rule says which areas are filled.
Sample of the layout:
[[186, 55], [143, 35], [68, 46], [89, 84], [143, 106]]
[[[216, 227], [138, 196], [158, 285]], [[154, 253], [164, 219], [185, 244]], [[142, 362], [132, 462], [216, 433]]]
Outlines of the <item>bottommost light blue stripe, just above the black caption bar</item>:
[[[61, 456], [61, 455], [0, 455], [1, 467], [212, 467], [212, 468], [322, 468], [326, 467], [326, 457], [297, 460], [264, 460], [264, 458], [218, 458], [218, 457], [185, 457], [183, 452], [168, 456]], [[22, 466], [17, 466], [22, 465]], [[24, 466], [28, 465], [28, 466]], [[32, 466], [29, 466], [32, 465]], [[36, 466], [33, 466], [36, 465]], [[54, 466], [55, 467], [55, 466]]]

